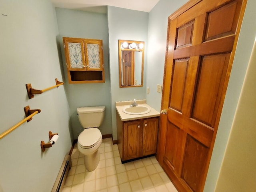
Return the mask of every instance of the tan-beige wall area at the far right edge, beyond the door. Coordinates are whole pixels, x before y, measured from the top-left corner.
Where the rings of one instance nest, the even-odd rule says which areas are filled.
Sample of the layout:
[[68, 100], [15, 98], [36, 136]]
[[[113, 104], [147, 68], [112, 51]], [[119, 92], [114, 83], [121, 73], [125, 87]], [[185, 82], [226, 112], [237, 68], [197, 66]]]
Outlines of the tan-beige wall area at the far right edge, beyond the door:
[[[230, 131], [215, 191], [256, 189], [256, 41]], [[254, 107], [253, 107], [254, 106]], [[245, 158], [246, 157], [246, 158]], [[232, 174], [230, 174], [232, 170]]]

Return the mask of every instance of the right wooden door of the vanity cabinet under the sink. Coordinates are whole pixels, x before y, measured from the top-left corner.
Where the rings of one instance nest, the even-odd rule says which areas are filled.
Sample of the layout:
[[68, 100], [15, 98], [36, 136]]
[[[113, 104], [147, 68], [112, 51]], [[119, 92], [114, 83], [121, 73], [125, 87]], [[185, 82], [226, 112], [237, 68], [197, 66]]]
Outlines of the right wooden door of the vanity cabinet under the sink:
[[157, 148], [159, 118], [149, 118], [143, 121], [142, 156], [155, 154]]

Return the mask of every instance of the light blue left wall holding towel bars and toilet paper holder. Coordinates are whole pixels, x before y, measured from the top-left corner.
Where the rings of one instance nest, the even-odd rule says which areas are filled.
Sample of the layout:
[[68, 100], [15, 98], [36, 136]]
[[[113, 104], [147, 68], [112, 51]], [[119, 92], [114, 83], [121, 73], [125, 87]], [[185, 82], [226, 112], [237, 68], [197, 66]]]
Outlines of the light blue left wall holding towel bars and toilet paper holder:
[[[0, 140], [0, 191], [49, 192], [72, 144], [68, 102], [64, 86], [28, 99], [25, 84], [41, 90], [64, 79], [55, 9], [50, 0], [0, 4], [0, 133], [25, 117], [25, 106], [42, 110]], [[49, 141], [49, 131], [59, 139], [42, 152], [40, 142]]]

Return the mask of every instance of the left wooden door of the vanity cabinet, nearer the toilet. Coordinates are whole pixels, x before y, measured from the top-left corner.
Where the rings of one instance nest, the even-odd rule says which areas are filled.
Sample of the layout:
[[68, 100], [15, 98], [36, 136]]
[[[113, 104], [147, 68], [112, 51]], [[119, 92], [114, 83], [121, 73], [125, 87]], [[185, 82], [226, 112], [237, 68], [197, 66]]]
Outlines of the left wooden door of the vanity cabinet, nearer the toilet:
[[143, 121], [135, 120], [124, 122], [124, 142], [123, 142], [123, 158], [124, 160], [138, 158], [142, 154], [142, 135]]

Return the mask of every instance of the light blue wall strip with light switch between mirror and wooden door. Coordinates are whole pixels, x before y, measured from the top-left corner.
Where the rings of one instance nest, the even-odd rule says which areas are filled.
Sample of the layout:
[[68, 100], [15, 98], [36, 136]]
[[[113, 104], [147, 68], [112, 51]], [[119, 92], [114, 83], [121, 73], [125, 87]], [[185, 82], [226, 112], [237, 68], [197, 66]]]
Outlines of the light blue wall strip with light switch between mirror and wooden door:
[[149, 13], [148, 22], [148, 67], [146, 86], [147, 103], [160, 112], [162, 93], [156, 92], [157, 84], [163, 84], [168, 16], [187, 0], [160, 0]]

